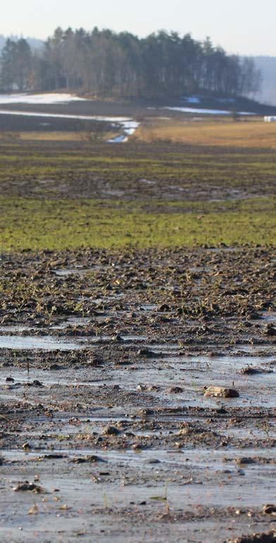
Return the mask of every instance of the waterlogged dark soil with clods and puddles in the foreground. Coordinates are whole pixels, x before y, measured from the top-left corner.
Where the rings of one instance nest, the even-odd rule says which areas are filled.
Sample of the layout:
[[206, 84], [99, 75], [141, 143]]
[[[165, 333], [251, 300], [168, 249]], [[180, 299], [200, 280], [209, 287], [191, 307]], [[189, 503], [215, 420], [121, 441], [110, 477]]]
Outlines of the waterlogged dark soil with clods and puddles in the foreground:
[[274, 264], [1, 255], [1, 541], [272, 541]]

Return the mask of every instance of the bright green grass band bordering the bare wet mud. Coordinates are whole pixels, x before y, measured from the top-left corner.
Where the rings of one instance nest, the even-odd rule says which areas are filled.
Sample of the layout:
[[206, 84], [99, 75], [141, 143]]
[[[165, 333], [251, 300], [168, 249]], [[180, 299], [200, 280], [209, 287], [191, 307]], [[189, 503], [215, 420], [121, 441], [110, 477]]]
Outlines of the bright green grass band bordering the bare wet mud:
[[120, 202], [2, 197], [0, 248], [146, 248], [275, 242], [272, 200], [236, 202], [234, 208], [229, 203], [204, 205], [199, 215], [196, 203], [190, 204], [189, 212], [181, 212], [181, 206], [174, 212], [146, 212], [143, 205]]

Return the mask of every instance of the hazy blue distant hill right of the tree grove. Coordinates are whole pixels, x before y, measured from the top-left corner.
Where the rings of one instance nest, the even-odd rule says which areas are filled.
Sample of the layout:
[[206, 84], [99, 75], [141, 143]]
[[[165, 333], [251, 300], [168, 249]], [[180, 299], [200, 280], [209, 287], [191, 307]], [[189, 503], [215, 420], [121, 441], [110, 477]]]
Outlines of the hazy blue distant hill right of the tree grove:
[[276, 57], [255, 56], [256, 68], [261, 70], [263, 82], [256, 100], [276, 106]]

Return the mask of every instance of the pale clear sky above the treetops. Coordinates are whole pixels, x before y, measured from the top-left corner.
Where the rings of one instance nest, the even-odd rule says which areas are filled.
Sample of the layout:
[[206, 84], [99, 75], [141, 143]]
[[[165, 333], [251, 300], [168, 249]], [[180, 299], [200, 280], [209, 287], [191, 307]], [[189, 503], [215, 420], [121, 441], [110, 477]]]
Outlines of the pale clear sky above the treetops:
[[[58, 26], [210, 36], [229, 53], [276, 56], [276, 0], [0, 0], [0, 34], [45, 39]], [[274, 36], [274, 39], [273, 39]]]

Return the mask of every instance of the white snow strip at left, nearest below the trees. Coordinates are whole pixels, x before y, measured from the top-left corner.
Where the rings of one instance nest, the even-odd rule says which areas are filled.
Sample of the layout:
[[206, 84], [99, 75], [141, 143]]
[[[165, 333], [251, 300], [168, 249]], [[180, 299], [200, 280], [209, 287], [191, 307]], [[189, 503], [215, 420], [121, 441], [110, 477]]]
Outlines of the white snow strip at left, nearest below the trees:
[[37, 103], [53, 104], [68, 103], [75, 101], [85, 101], [85, 98], [79, 98], [68, 93], [49, 93], [49, 94], [0, 94], [0, 104], [4, 103]]

